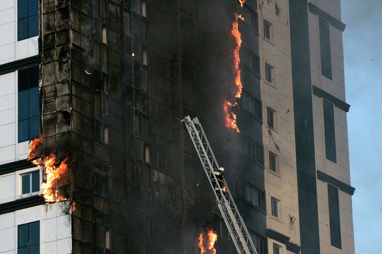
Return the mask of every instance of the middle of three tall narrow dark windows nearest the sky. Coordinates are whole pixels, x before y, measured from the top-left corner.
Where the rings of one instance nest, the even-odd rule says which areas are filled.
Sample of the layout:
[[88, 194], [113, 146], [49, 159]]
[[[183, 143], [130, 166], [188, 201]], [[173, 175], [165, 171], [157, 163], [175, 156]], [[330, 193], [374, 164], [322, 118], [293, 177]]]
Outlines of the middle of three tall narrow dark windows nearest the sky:
[[325, 154], [326, 159], [337, 163], [336, 156], [336, 133], [334, 129], [334, 105], [323, 99], [324, 106], [324, 131], [325, 131]]

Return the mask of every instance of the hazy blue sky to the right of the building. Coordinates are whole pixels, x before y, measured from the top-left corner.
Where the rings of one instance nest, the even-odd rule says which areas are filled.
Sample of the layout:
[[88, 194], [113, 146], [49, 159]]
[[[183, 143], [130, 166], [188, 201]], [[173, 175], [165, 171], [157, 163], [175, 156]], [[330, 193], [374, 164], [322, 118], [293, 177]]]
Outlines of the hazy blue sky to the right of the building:
[[356, 254], [382, 253], [382, 0], [341, 0]]

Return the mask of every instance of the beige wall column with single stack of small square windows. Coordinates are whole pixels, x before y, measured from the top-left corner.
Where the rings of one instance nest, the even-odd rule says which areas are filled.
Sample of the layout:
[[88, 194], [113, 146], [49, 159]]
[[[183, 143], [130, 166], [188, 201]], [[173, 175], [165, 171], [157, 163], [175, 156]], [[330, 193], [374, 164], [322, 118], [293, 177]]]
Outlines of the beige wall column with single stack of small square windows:
[[288, 1], [259, 6], [269, 253], [300, 252]]

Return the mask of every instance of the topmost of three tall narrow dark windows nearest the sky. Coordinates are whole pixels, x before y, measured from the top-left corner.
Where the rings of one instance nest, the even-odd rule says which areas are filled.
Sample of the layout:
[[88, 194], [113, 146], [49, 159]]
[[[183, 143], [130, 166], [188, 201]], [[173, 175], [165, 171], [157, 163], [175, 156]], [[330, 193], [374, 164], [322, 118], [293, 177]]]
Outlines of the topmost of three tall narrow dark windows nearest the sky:
[[332, 79], [332, 60], [330, 55], [329, 22], [319, 17], [321, 74]]

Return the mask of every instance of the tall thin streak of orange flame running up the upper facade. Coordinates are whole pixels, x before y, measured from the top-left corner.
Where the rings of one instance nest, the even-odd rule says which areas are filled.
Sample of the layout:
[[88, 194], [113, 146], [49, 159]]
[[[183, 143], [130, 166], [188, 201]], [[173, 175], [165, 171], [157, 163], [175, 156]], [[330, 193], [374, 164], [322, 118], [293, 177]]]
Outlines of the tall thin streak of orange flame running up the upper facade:
[[[245, 0], [239, 0], [240, 5], [243, 6], [243, 3]], [[239, 32], [239, 23], [238, 20], [244, 20], [244, 18], [235, 13], [235, 21], [232, 23], [232, 29], [231, 34], [233, 38], [235, 39], [235, 50], [234, 50], [234, 69], [233, 69], [233, 75], [234, 75], [234, 82], [235, 82], [235, 88], [236, 88], [236, 94], [235, 99], [239, 99], [241, 97], [241, 92], [243, 89], [243, 84], [241, 83], [241, 71], [240, 71], [240, 47], [241, 47], [241, 33]], [[237, 102], [229, 102], [224, 101], [224, 113], [225, 113], [225, 127], [232, 128], [236, 130], [236, 132], [240, 132], [239, 127], [237, 127], [236, 123], [236, 114], [232, 112], [232, 109], [229, 110], [229, 108], [235, 107], [237, 105]]]

